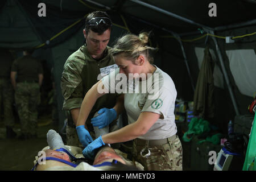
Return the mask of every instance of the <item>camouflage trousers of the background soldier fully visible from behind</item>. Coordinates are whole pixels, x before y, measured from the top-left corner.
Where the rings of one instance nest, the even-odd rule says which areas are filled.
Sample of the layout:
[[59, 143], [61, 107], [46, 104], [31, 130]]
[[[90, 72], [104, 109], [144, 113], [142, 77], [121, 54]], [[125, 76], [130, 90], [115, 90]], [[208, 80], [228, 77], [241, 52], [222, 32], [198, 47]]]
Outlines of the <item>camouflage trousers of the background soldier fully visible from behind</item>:
[[16, 84], [15, 103], [18, 110], [22, 133], [35, 135], [38, 127], [38, 110], [40, 103], [40, 86], [34, 82]]

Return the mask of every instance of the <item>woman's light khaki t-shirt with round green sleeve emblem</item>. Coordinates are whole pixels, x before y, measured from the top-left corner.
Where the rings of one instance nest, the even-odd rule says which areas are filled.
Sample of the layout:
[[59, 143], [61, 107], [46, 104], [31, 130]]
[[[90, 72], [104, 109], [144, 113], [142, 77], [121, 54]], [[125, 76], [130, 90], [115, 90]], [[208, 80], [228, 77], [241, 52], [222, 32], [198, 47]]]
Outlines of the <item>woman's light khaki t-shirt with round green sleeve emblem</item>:
[[[110, 92], [110, 90], [112, 92], [113, 90], [121, 91], [119, 89], [119, 85], [122, 85], [120, 84], [121, 79], [115, 77], [118, 72], [119, 68], [102, 78], [105, 93]], [[123, 85], [121, 88], [123, 89]], [[134, 89], [134, 93], [130, 92], [131, 89]], [[127, 92], [124, 94], [129, 124], [136, 122], [142, 112], [160, 114], [160, 118], [150, 130], [138, 138], [145, 140], [164, 139], [177, 133], [174, 115], [177, 92], [172, 78], [167, 73], [156, 67], [156, 71], [151, 77], [147, 77], [146, 81], [139, 81], [134, 86], [127, 84]]]

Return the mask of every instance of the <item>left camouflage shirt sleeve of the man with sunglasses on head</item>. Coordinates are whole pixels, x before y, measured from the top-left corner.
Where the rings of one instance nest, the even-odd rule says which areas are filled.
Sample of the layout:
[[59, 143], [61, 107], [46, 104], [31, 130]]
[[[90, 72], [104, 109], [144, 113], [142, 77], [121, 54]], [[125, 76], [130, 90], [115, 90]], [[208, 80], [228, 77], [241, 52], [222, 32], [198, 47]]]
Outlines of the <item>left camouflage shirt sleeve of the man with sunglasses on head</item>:
[[83, 100], [81, 72], [84, 64], [84, 57], [73, 54], [69, 56], [64, 65], [60, 81], [61, 92], [64, 97], [64, 110], [81, 107]]

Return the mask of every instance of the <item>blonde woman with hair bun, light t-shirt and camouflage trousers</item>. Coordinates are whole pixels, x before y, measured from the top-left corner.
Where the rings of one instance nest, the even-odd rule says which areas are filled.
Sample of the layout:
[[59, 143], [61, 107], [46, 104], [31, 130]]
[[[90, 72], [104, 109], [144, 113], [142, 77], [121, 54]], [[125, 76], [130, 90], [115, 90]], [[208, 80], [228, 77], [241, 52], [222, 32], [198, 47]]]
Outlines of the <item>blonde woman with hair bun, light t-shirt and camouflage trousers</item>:
[[[112, 72], [109, 76], [102, 78], [86, 94], [82, 101], [77, 126], [84, 125], [97, 98], [109, 93], [109, 90], [114, 89], [115, 92], [119, 92], [116, 81], [115, 84], [111, 81], [116, 80], [115, 76], [118, 72], [123, 73], [126, 78], [129, 77], [129, 81], [131, 73], [147, 75], [144, 79], [135, 77], [135, 80], [140, 78], [137, 85], [140, 89], [143, 89], [145, 81], [149, 83], [146, 93], [141, 90], [136, 93], [123, 92], [129, 125], [98, 137], [84, 149], [83, 154], [90, 158], [94, 155], [94, 149], [106, 143], [134, 139], [134, 159], [138, 160], [144, 169], [182, 170], [182, 147], [176, 135], [174, 115], [177, 92], [172, 78], [155, 65], [150, 64], [152, 60], [150, 51], [154, 48], [148, 47], [147, 42], [148, 34], [146, 33], [139, 36], [128, 34], [119, 38], [112, 50], [115, 63], [119, 68], [115, 73]], [[104, 86], [103, 93], [99, 92], [102, 86]]]

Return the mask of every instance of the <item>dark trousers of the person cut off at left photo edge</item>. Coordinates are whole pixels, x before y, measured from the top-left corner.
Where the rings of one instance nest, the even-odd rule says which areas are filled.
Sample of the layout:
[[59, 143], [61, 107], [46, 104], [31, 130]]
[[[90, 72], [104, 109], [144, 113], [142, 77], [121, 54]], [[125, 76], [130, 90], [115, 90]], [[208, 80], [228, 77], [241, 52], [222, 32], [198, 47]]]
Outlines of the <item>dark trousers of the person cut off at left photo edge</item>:
[[3, 118], [5, 126], [14, 126], [13, 116], [14, 90], [10, 79], [0, 78], [0, 115], [3, 106]]

